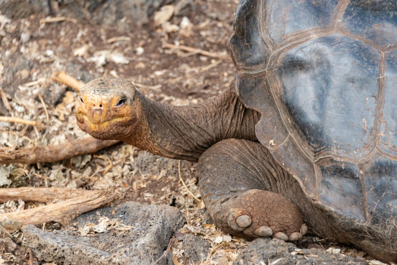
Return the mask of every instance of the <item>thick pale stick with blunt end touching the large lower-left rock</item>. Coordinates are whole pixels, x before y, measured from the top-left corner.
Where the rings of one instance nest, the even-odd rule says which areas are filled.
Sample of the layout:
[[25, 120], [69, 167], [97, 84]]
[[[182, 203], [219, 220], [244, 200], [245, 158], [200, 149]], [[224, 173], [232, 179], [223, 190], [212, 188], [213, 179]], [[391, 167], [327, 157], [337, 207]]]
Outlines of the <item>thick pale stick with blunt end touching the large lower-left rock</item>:
[[[60, 220], [64, 217], [74, 217], [82, 213], [96, 209], [104, 204], [113, 201], [114, 193], [95, 190], [86, 192], [86, 194], [71, 198], [61, 203], [37, 207], [20, 212], [0, 214], [0, 221], [8, 219], [13, 221], [13, 229], [19, 229], [26, 224], [41, 224]], [[6, 222], [7, 223], [7, 222]], [[5, 227], [7, 229], [7, 227]]]

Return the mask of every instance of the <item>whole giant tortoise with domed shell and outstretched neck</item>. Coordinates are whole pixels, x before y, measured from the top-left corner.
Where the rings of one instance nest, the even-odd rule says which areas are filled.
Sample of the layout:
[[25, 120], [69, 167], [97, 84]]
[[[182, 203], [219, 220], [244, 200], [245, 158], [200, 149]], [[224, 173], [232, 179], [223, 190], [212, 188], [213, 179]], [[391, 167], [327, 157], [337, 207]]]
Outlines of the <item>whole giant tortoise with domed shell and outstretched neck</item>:
[[396, 44], [395, 0], [241, 0], [223, 94], [173, 107], [103, 77], [76, 119], [97, 139], [198, 161], [227, 233], [294, 241], [309, 227], [396, 262]]

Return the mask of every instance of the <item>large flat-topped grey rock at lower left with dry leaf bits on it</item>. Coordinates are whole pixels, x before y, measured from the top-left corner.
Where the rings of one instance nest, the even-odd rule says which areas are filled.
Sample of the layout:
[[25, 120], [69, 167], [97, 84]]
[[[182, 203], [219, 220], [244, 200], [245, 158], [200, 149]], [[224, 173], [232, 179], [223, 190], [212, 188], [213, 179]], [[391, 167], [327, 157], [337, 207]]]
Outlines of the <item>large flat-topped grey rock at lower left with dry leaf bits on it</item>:
[[[80, 231], [44, 232], [34, 225], [22, 227], [27, 246], [40, 261], [57, 264], [152, 264], [167, 248], [170, 237], [183, 226], [183, 214], [175, 207], [128, 202], [94, 210], [76, 218], [77, 226], [98, 224], [99, 218], [122, 220], [133, 226], [122, 235], [115, 230], [82, 237]], [[167, 264], [167, 258], [157, 264]]]

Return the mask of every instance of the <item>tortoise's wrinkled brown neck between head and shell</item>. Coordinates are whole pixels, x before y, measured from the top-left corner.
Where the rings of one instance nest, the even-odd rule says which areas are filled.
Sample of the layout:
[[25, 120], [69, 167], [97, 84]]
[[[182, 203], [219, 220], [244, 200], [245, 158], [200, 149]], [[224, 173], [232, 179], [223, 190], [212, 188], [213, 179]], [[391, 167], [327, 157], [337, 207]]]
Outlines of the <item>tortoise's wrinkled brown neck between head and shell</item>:
[[136, 111], [137, 126], [124, 141], [160, 156], [197, 161], [224, 139], [257, 141], [259, 114], [242, 104], [234, 82], [221, 95], [189, 106], [156, 103], [137, 91]]

